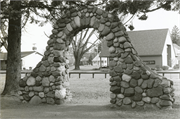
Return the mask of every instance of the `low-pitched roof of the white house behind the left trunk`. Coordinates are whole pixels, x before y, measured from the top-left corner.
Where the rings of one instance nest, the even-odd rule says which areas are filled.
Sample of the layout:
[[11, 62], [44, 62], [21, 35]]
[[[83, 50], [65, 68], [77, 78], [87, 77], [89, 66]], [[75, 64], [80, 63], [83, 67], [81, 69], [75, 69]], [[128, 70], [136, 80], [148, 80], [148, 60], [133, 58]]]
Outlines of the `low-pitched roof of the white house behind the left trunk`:
[[[36, 51], [25, 51], [25, 52], [21, 52], [21, 58], [26, 57], [32, 53], [34, 53]], [[42, 54], [36, 52], [37, 54], [43, 56]], [[0, 60], [7, 60], [7, 53], [4, 52], [0, 52]]]

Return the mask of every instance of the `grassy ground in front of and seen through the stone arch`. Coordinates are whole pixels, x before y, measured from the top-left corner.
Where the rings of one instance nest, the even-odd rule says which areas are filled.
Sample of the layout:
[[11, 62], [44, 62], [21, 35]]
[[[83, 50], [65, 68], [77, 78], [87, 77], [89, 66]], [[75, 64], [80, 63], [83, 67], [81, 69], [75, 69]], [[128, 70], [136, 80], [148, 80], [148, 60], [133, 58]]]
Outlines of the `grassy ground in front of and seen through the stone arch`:
[[[3, 86], [1, 76], [0, 87]], [[4, 76], [5, 77], [5, 76]], [[174, 82], [175, 104], [172, 110], [126, 110], [110, 106], [109, 77], [97, 74], [83, 74], [81, 78], [73, 74], [70, 78], [73, 100], [63, 105], [22, 104], [17, 97], [1, 97], [1, 118], [122, 118], [122, 119], [179, 119], [180, 79], [179, 75], [166, 75]], [[2, 89], [1, 89], [2, 90]]]

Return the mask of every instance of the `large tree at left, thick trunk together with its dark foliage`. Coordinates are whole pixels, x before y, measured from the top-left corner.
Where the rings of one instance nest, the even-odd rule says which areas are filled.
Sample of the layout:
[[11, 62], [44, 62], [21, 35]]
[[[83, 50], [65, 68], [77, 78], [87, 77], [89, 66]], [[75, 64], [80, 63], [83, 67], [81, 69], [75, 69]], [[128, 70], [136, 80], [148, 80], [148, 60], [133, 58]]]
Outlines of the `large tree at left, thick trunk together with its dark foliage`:
[[[1, 1], [1, 46], [5, 46], [7, 55], [6, 83], [2, 95], [16, 93], [21, 78], [21, 28], [25, 26], [31, 12], [37, 13], [35, 8], [43, 8], [40, 2]], [[45, 6], [45, 5], [44, 5]], [[31, 9], [30, 9], [31, 8]], [[23, 21], [24, 16], [25, 21]], [[32, 18], [33, 16], [31, 16]], [[8, 33], [6, 26], [8, 24]]]

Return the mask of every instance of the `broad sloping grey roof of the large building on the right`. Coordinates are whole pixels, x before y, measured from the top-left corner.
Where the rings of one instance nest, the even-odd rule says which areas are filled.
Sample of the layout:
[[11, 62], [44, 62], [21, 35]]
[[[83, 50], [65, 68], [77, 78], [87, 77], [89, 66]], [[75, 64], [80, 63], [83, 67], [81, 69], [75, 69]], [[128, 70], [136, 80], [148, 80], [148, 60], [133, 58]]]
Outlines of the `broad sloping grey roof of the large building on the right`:
[[[127, 33], [139, 56], [161, 55], [168, 29], [128, 31]], [[109, 56], [106, 42], [102, 44], [100, 56]]]

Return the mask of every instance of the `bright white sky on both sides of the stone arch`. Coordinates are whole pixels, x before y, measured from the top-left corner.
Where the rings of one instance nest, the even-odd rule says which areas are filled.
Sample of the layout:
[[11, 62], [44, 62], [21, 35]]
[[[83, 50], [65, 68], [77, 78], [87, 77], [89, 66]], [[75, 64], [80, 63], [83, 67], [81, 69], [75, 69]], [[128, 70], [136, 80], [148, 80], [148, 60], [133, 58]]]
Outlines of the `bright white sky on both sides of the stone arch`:
[[[147, 15], [148, 19], [144, 21], [138, 20], [137, 17], [133, 19], [134, 31], [168, 28], [171, 32], [175, 25], [180, 29], [180, 14], [178, 12], [161, 9]], [[21, 51], [32, 51], [32, 47], [35, 44], [37, 51], [43, 53], [49, 40], [45, 33], [50, 36], [51, 31], [52, 25], [49, 23], [43, 27], [27, 23], [25, 30], [22, 31]]]

